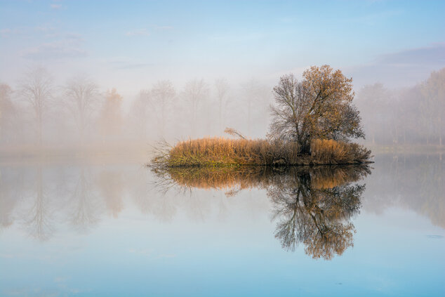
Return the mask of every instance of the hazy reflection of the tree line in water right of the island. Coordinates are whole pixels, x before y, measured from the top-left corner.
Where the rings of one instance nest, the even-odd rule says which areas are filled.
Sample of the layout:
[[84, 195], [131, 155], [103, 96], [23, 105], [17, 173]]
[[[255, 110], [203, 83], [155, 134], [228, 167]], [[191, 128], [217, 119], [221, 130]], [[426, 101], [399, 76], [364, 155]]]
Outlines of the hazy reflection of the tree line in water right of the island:
[[[369, 178], [366, 211], [390, 206], [415, 211], [445, 228], [445, 162], [441, 154], [379, 154]], [[372, 195], [371, 195], [372, 194]]]

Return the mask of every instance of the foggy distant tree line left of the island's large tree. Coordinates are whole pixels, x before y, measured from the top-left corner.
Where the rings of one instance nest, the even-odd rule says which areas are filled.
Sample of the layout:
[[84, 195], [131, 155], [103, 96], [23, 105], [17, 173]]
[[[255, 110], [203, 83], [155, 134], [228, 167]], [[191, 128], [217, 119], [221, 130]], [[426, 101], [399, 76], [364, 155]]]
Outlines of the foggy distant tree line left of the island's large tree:
[[88, 145], [223, 135], [237, 126], [251, 137], [267, 129], [272, 94], [251, 80], [231, 85], [226, 79], [191, 79], [182, 87], [160, 80], [135, 98], [116, 88], [103, 90], [86, 76], [56, 85], [37, 67], [16, 86], [0, 82], [0, 144]]

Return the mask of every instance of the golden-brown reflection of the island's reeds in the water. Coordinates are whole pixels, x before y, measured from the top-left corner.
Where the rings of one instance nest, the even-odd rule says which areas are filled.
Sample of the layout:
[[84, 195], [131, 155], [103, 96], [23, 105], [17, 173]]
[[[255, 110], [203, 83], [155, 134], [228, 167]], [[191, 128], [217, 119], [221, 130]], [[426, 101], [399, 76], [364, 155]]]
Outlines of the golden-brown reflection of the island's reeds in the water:
[[282, 183], [286, 176], [309, 173], [312, 187], [324, 189], [359, 180], [369, 173], [369, 169], [365, 165], [293, 166], [283, 170], [274, 169], [272, 166], [173, 167], [157, 173], [181, 187], [223, 190], [267, 187], [274, 183]]

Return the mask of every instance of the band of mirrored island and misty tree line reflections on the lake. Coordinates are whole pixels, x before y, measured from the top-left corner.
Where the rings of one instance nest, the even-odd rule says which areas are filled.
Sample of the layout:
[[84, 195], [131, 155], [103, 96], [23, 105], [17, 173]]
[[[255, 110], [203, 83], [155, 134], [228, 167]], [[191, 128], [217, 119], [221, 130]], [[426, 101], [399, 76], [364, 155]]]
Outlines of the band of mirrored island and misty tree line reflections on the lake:
[[[162, 222], [180, 213], [203, 222], [213, 212], [223, 220], [238, 201], [244, 213], [264, 217], [268, 209], [284, 249], [300, 244], [314, 258], [329, 259], [352, 246], [351, 218], [361, 210], [378, 214], [397, 207], [445, 226], [439, 155], [378, 155], [376, 169], [366, 177], [366, 194], [360, 182], [369, 173], [366, 167], [175, 169], [153, 176], [141, 163], [84, 158], [0, 164], [0, 231], [15, 226], [44, 242], [65, 227], [95, 230], [100, 221], [120, 218], [132, 206]], [[246, 191], [253, 188], [260, 191]], [[267, 205], [255, 197], [263, 193]]]

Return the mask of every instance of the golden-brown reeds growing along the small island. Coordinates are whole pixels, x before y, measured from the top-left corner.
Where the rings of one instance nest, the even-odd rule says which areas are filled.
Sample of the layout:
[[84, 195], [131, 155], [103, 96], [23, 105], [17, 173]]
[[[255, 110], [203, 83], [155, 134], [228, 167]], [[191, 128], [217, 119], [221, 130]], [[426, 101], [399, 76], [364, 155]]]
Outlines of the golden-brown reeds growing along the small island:
[[311, 155], [298, 154], [297, 143], [269, 140], [201, 138], [164, 148], [152, 166], [361, 164], [371, 154], [361, 145], [336, 140], [314, 140]]

